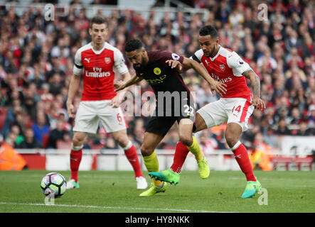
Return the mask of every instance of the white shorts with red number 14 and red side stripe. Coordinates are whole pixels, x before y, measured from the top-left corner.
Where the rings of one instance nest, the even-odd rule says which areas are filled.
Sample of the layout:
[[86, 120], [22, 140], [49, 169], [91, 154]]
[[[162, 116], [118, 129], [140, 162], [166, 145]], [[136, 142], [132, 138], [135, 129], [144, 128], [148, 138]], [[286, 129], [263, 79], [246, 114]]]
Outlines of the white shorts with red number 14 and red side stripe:
[[201, 115], [208, 128], [220, 126], [223, 123], [238, 123], [242, 131], [246, 131], [248, 119], [254, 109], [251, 99], [221, 98], [203, 106], [197, 113]]

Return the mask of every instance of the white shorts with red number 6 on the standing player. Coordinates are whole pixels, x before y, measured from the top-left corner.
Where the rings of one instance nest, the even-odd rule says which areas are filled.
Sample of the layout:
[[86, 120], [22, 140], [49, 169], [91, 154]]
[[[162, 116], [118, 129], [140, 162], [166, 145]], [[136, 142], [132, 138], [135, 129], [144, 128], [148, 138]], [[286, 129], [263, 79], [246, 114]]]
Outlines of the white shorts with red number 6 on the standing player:
[[107, 133], [126, 129], [127, 124], [122, 109], [113, 108], [110, 102], [111, 100], [80, 101], [73, 131], [97, 133], [100, 123]]

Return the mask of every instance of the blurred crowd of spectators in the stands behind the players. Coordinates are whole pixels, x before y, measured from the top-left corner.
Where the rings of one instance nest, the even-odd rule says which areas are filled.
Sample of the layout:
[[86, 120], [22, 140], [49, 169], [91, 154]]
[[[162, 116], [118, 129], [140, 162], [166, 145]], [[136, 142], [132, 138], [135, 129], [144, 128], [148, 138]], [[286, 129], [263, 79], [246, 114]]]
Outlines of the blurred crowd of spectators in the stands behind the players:
[[[200, 48], [201, 26], [215, 26], [220, 45], [241, 55], [260, 76], [261, 96], [267, 104], [264, 112], [254, 111], [242, 140], [251, 146], [260, 138], [259, 143], [279, 148], [274, 135], [315, 135], [315, 6], [306, 0], [267, 2], [267, 21], [258, 19], [257, 1], [242, 0], [194, 1], [195, 8], [209, 10], [207, 21], [198, 14], [188, 21], [178, 11], [175, 19], [166, 12], [156, 23], [153, 9], [148, 19], [137, 11], [112, 11], [107, 17], [107, 41], [124, 53], [126, 40], [140, 38], [148, 50], [169, 50], [190, 57]], [[80, 5], [80, 0], [71, 3], [66, 16], [56, 12], [54, 21], [46, 21], [43, 11], [32, 6], [20, 17], [14, 6], [1, 8], [0, 130], [14, 148], [70, 148], [73, 122], [65, 101], [73, 57], [78, 48], [90, 42], [86, 9], [74, 9], [73, 4]], [[196, 92], [197, 109], [219, 98], [212, 96], [207, 82], [193, 70], [184, 73], [183, 79]], [[145, 81], [140, 85], [141, 93], [150, 90]], [[82, 87], [75, 98], [76, 108], [81, 94]], [[142, 144], [146, 120], [126, 116], [129, 138], [137, 148]], [[205, 153], [228, 148], [224, 127], [198, 134]], [[177, 140], [173, 126], [159, 148], [174, 148]], [[118, 145], [100, 128], [97, 135], [86, 139], [85, 148]]]

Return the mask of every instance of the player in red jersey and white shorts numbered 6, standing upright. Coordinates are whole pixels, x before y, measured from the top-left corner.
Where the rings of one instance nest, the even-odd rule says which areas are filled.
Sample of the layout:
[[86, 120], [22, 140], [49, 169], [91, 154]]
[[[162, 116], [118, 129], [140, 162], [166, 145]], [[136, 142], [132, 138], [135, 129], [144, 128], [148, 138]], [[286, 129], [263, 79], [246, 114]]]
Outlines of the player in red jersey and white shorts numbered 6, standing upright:
[[[73, 145], [70, 153], [71, 177], [67, 189], [79, 188], [78, 170], [82, 158], [83, 140], [87, 133], [96, 133], [99, 123], [111, 133], [132, 165], [137, 181], [137, 189], [146, 189], [147, 182], [142, 174], [137, 150], [127, 137], [127, 124], [119, 108], [124, 91], [114, 92], [114, 70], [124, 81], [131, 76], [124, 64], [122, 52], [105, 42], [107, 23], [101, 16], [95, 16], [90, 22], [89, 33], [92, 42], [82, 46], [75, 53], [73, 77], [70, 81], [67, 109], [70, 118], [75, 118], [73, 127]], [[83, 93], [78, 111], [74, 114], [73, 98], [83, 77]]]

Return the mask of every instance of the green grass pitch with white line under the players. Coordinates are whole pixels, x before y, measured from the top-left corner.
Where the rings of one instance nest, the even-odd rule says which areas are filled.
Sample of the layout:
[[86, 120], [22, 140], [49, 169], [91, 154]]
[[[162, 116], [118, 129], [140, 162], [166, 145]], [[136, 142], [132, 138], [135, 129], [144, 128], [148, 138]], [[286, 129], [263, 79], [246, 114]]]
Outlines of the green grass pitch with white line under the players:
[[[315, 172], [255, 171], [267, 194], [240, 199], [245, 177], [238, 171], [212, 171], [208, 179], [197, 171], [183, 171], [179, 184], [151, 197], [139, 196], [144, 190], [136, 189], [133, 172], [82, 171], [80, 189], [65, 192], [55, 206], [45, 205], [40, 188], [47, 173], [0, 172], [0, 213], [315, 212]], [[70, 171], [60, 174], [70, 177]], [[146, 179], [151, 182], [147, 173]], [[260, 205], [264, 201], [267, 205]]]

